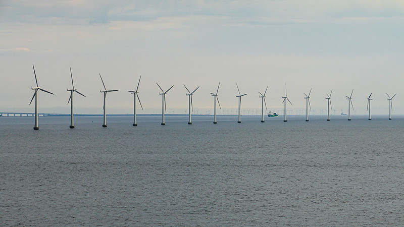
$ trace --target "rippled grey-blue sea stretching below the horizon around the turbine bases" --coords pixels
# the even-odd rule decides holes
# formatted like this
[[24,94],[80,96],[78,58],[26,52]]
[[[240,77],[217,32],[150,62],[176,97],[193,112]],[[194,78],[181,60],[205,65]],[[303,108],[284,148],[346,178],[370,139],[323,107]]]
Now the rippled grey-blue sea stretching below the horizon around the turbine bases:
[[1,226],[404,225],[404,116],[0,118]]

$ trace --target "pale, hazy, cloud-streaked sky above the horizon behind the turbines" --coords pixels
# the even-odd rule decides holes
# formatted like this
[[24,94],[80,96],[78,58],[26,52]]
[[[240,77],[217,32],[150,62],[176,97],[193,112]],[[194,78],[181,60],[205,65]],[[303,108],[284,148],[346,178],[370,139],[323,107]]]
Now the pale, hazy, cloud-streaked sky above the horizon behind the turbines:
[[[103,112],[103,76],[107,113],[133,113],[139,76],[143,110],[161,113],[167,93],[168,113],[187,113],[189,90],[194,113],[213,114],[220,82],[222,111],[261,111],[259,91],[268,110],[292,114],[306,109],[326,114],[332,91],[333,113],[404,114],[404,2],[401,0],[313,1],[29,1],[0,0],[0,111],[33,112],[32,65],[43,89],[39,112],[69,113],[70,68],[76,113]],[[266,110],[265,110],[266,111]]]

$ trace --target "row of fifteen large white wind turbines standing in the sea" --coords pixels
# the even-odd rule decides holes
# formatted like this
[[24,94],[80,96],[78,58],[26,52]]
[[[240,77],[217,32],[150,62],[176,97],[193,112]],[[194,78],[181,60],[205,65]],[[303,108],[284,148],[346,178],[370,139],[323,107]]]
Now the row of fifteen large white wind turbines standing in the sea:
[[[38,126],[38,106],[37,106],[37,93],[38,93],[38,90],[41,90],[41,91],[43,91],[43,92],[46,92],[46,93],[49,93],[49,94],[53,94],[54,95],[54,93],[52,93],[52,92],[49,92],[49,91],[47,91],[47,90],[45,90],[45,89],[43,89],[43,88],[41,88],[41,87],[39,87],[39,85],[38,85],[38,80],[37,80],[37,78],[36,78],[36,73],[35,73],[35,67],[34,67],[34,65],[32,65],[32,68],[33,68],[33,70],[34,70],[34,76],[35,76],[35,82],[36,82],[36,87],[31,87],[31,89],[32,90],[35,90],[35,92],[34,92],[34,95],[32,96],[32,99],[31,99],[31,102],[29,103],[30,105],[31,105],[31,103],[32,103],[32,101],[33,101],[33,99],[35,98],[35,125],[34,125],[34,130],[38,130],[39,129],[39,126]],[[71,80],[72,80],[72,89],[67,89],[67,91],[70,91],[71,93],[70,93],[70,97],[69,97],[69,100],[68,100],[68,104],[69,104],[69,102],[70,102],[70,104],[71,104],[71,114],[70,114],[70,128],[71,129],[74,129],[75,128],[75,126],[74,126],[74,119],[73,119],[73,116],[74,116],[74,113],[73,113],[73,94],[74,94],[74,92],[77,92],[78,94],[80,94],[80,95],[82,95],[83,97],[85,97],[85,95],[84,94],[82,94],[82,93],[80,93],[77,89],[75,89],[74,88],[74,83],[73,83],[73,75],[72,75],[72,69],[70,68],[70,77],[71,77]],[[100,79],[101,79],[101,82],[103,83],[103,86],[104,86],[104,90],[100,90],[100,93],[104,93],[104,106],[103,106],[103,110],[104,110],[104,122],[103,122],[103,127],[105,128],[105,127],[107,127],[107,118],[106,118],[106,98],[107,98],[107,93],[108,92],[113,92],[113,91],[118,91],[118,89],[113,89],[113,90],[108,90],[107,88],[106,88],[106,86],[105,86],[105,83],[104,83],[104,80],[103,80],[103,77],[101,76],[101,74],[99,74],[99,77],[100,77]],[[140,98],[139,98],[139,84],[140,84],[140,79],[141,79],[141,76],[139,77],[139,81],[138,81],[138,83],[137,83],[137,87],[136,87],[136,90],[129,90],[128,92],[130,92],[131,94],[134,94],[134,101],[133,101],[133,126],[137,126],[137,121],[136,121],[136,99],[139,101],[139,104],[140,104],[140,107],[143,109],[143,106],[142,106],[142,104],[141,104],[141,102],[140,102]],[[174,87],[174,85],[173,86],[171,86],[169,89],[167,89],[166,91],[164,91],[163,90],[163,88],[158,84],[158,83],[156,83],[157,84],[157,86],[160,88],[160,90],[161,90],[161,92],[162,93],[160,93],[160,95],[162,95],[162,123],[161,123],[161,125],[166,125],[166,123],[165,123],[165,116],[164,116],[164,113],[165,113],[165,111],[167,111],[167,107],[166,107],[166,94],[167,94],[167,92],[168,91],[170,91],[171,90],[171,88],[173,88]],[[240,109],[241,109],[241,97],[243,97],[243,96],[245,96],[245,95],[247,95],[247,94],[241,94],[240,93],[240,89],[239,89],[239,87],[238,87],[238,84],[236,83],[236,86],[237,86],[237,91],[238,91],[238,95],[236,95],[236,97],[238,97],[238,121],[237,121],[237,123],[241,123],[241,115],[240,115]],[[191,125],[192,124],[192,122],[191,122],[191,111],[193,111],[193,104],[192,104],[192,95],[193,95],[193,93],[199,88],[199,87],[197,87],[197,88],[195,88],[192,92],[190,92],[190,90],[184,85],[184,87],[185,87],[185,89],[187,90],[187,92],[188,93],[186,93],[186,95],[188,96],[188,124],[189,125]],[[219,108],[220,109],[222,109],[221,108],[221,106],[220,106],[220,102],[219,102],[219,98],[218,98],[218,96],[219,96],[219,87],[220,87],[220,82],[219,82],[219,84],[218,84],[218,88],[217,88],[217,90],[216,90],[216,93],[211,93],[211,96],[212,97],[214,97],[214,124],[217,124],[217,118],[216,118],[216,101],[217,101],[217,103],[218,103],[218,105],[219,105]],[[265,105],[265,108],[266,108],[266,110],[268,111],[268,108],[267,108],[267,103],[266,103],[266,100],[265,100],[265,95],[266,95],[266,93],[267,93],[267,90],[268,90],[268,86],[266,87],[266,89],[265,89],[265,91],[264,91],[264,93],[261,93],[261,92],[258,92],[259,94],[260,94],[260,98],[261,98],[261,102],[262,102],[262,104],[261,104],[261,122],[265,122],[264,121],[264,105]],[[309,94],[307,95],[306,93],[304,93],[304,95],[305,95],[305,99],[306,99],[306,121],[308,122],[309,121],[309,108],[310,108],[310,110],[311,110],[311,105],[310,105],[310,94],[311,94],[311,92],[312,92],[312,89],[310,89],[310,92],[309,92]],[[352,109],[354,109],[354,105],[352,104],[352,94],[354,93],[354,89],[352,89],[352,92],[351,92],[351,94],[350,94],[350,96],[348,97],[348,96],[345,96],[346,97],[346,99],[348,100],[348,121],[350,121],[351,120],[351,118],[350,118],[350,107],[352,106]],[[387,93],[386,93],[387,94]],[[331,90],[331,92],[330,92],[330,95],[328,95],[327,93],[326,93],[326,95],[327,95],[327,97],[326,97],[326,99],[327,99],[327,101],[328,101],[328,108],[327,108],[327,121],[330,121],[330,107],[331,107],[331,110],[332,110],[332,104],[331,104],[331,95],[332,95],[332,90]],[[391,120],[391,110],[392,110],[392,103],[391,103],[391,100],[394,98],[394,96],[395,96],[396,94],[394,94],[392,97],[390,97],[388,94],[387,94],[387,96],[388,96],[388,101],[389,101],[389,120]],[[369,95],[369,97],[367,98],[368,99],[368,105],[367,105],[367,111],[369,110],[369,120],[372,120],[372,118],[371,118],[371,111],[370,111],[370,107],[371,107],[371,100],[372,100],[372,98],[370,98],[372,96],[372,93]],[[282,103],[284,103],[284,122],[287,122],[287,119],[286,119],[286,100],[291,104],[291,105],[293,105],[292,104],[292,102],[289,100],[289,98],[288,98],[288,96],[287,96],[287,86],[286,86],[286,83],[285,83],[285,96],[283,96],[282,97],[283,98],[283,101],[282,101]]]

